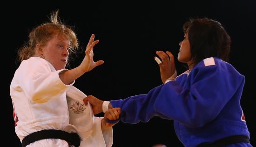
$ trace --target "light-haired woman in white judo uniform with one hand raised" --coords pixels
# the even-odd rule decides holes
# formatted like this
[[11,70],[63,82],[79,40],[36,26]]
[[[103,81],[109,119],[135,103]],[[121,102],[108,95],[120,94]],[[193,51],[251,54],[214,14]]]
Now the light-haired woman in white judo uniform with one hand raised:
[[78,48],[78,41],[75,33],[58,21],[58,11],[50,23],[29,34],[10,86],[15,132],[23,147],[112,146],[114,124],[106,120],[118,119],[120,108],[108,110],[105,117],[94,117],[90,104],[83,103],[86,95],[73,86],[82,74],[103,64],[103,60],[93,60],[98,42],[92,34],[83,61],[68,70],[68,56]]

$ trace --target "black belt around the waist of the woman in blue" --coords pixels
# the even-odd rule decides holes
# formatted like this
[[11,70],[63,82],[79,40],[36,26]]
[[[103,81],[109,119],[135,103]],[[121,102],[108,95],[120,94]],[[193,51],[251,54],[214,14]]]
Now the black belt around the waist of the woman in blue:
[[229,136],[229,137],[222,138],[213,143],[207,143],[207,142],[202,143],[202,144],[198,145],[197,147],[223,147],[223,146],[227,146],[227,145],[239,143],[239,142],[250,143],[248,137],[243,136],[243,135],[236,135],[236,136]]

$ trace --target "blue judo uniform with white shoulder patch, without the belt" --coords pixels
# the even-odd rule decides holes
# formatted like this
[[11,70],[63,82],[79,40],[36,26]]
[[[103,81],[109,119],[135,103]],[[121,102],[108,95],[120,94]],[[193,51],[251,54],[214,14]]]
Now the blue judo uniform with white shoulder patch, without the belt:
[[[125,123],[147,122],[154,116],[174,120],[177,137],[184,146],[196,147],[224,137],[245,135],[240,98],[245,77],[219,58],[202,60],[187,71],[148,94],[111,100],[121,107],[120,120]],[[236,143],[227,147],[252,147]]]

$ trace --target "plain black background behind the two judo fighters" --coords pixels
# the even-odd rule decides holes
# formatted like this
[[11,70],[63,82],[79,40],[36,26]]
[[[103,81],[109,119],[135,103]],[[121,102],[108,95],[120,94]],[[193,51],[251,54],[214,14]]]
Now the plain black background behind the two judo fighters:
[[[179,43],[183,39],[182,24],[190,17],[209,17],[223,24],[229,33],[232,45],[229,62],[246,77],[241,105],[250,131],[250,141],[256,144],[256,120],[253,118],[255,99],[255,55],[256,49],[256,1],[222,0],[196,1],[95,1],[77,3],[6,4],[2,12],[5,39],[2,40],[4,60],[4,127],[3,134],[10,147],[21,147],[14,132],[12,101],[9,86],[15,69],[16,51],[25,41],[32,28],[47,22],[49,14],[60,10],[64,23],[74,27],[82,48],[90,35],[100,43],[94,47],[94,60],[105,63],[84,74],[74,83],[85,94],[102,100],[123,99],[131,95],[147,94],[150,89],[162,84],[160,71],[154,60],[155,51],[170,51],[175,56],[177,74],[186,68],[176,60]],[[43,3],[43,4],[42,4]],[[3,11],[3,10],[1,10]],[[6,53],[7,51],[7,53]],[[84,57],[79,54],[71,62],[78,66]],[[203,110],[202,110],[203,111]],[[102,116],[99,114],[97,116]],[[177,139],[172,120],[152,118],[147,123],[124,124],[113,127],[113,147],[152,147],[165,144],[167,147],[182,147]]]

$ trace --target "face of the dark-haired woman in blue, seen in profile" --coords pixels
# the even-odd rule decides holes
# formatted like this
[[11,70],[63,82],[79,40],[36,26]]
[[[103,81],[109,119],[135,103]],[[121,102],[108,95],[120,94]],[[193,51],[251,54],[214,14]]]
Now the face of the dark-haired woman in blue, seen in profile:
[[191,52],[190,52],[190,43],[189,43],[189,35],[185,33],[184,39],[180,42],[180,51],[178,54],[178,60],[182,63],[192,63],[191,61]]

